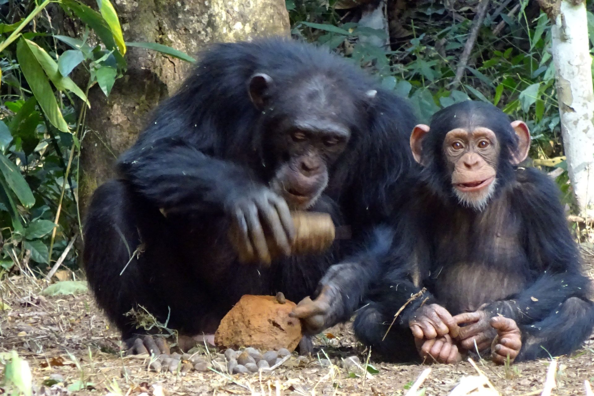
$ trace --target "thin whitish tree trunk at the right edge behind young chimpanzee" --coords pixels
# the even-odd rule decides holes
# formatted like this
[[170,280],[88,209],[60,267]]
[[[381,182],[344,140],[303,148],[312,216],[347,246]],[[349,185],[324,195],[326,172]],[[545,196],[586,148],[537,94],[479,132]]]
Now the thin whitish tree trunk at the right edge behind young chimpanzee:
[[592,216],[594,93],[585,2],[561,1],[552,26],[552,53],[567,170],[580,214]]

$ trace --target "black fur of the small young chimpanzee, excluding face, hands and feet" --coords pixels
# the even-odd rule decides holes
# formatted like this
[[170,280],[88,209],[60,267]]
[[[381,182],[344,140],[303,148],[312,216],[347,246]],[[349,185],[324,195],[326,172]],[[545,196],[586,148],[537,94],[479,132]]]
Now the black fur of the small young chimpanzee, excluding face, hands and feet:
[[[485,210],[463,207],[451,192],[442,144],[454,128],[491,128],[501,143],[498,188]],[[426,166],[410,191],[407,215],[388,259],[390,269],[369,293],[356,335],[390,360],[418,360],[409,319],[422,303],[451,315],[476,311],[514,319],[522,331],[517,360],[571,353],[592,332],[590,281],[580,271],[558,188],[536,169],[514,167],[517,136],[496,107],[463,102],[438,112],[423,142]],[[427,292],[400,313],[422,287]]]

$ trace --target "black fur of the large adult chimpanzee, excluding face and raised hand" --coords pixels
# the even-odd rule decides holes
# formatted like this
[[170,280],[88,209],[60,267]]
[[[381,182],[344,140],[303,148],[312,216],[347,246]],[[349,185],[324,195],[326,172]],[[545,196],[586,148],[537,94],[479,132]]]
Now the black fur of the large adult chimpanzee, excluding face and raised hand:
[[[413,113],[348,61],[311,45],[280,39],[220,44],[200,58],[119,159],[121,179],[94,194],[84,265],[97,302],[124,338],[140,332],[124,315],[139,305],[194,335],[214,332],[243,294],[281,291],[298,302],[331,282],[343,301],[333,319],[348,319],[378,273],[376,257],[390,246],[381,224],[400,203],[386,191],[397,191],[413,167],[407,150]],[[270,97],[277,102],[264,113],[247,93],[257,72],[274,80]],[[311,78],[330,84],[352,135],[310,210],[331,213],[337,225],[351,226],[353,237],[324,255],[283,258],[270,267],[239,264],[224,202],[273,177],[282,153],[267,151],[274,132],[267,127],[277,112],[292,111],[290,96]],[[371,101],[370,89],[378,91]]]

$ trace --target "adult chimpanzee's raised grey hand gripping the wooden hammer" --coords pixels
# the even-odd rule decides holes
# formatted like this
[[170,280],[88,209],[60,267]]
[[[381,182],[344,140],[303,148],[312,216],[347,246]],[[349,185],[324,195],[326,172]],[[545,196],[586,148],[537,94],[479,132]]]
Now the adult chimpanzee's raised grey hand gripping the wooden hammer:
[[[285,199],[274,194],[267,187],[252,187],[233,194],[225,203],[225,210],[239,230],[239,237],[247,256],[255,256],[261,262],[270,264],[270,249],[277,248],[286,255],[291,252],[295,236],[293,220]],[[264,236],[264,227],[272,238]],[[268,246],[273,241],[276,246]]]

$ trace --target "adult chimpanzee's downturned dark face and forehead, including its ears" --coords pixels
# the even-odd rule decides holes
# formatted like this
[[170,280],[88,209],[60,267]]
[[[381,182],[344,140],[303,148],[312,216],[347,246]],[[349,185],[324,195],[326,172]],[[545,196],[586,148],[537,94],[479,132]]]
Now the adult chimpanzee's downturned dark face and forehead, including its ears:
[[[267,117],[265,151],[272,158],[270,187],[292,209],[313,205],[328,184],[328,168],[345,151],[351,138],[354,100],[323,76],[304,78],[283,91],[266,89],[272,81],[255,75],[250,85],[252,102]],[[276,87],[277,88],[277,87]],[[374,91],[375,92],[375,91]]]

